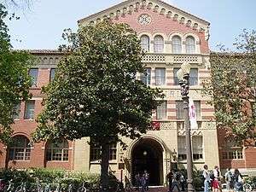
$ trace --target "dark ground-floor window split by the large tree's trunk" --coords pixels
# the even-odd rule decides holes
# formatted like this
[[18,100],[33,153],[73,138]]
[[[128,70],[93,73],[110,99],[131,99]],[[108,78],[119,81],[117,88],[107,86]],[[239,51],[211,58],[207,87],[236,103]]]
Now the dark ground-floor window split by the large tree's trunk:
[[[109,145],[109,160],[116,160],[117,158],[117,148],[116,143]],[[102,150],[99,145],[92,144],[90,146],[90,160],[101,160],[102,159]]]

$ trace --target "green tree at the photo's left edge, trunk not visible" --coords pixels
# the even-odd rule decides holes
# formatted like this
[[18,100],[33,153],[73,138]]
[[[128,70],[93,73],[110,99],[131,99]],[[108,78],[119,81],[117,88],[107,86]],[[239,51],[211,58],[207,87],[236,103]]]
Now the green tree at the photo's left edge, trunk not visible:
[[25,51],[12,49],[9,29],[4,22],[7,15],[0,3],[0,141],[3,143],[10,141],[15,106],[30,97],[31,79],[27,72],[33,61]]

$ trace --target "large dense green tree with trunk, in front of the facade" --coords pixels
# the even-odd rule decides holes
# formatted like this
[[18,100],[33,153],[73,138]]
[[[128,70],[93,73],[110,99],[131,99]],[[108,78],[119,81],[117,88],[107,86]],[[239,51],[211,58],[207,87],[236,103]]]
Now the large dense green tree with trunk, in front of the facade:
[[[104,21],[67,32],[70,44],[55,80],[44,88],[44,111],[36,140],[90,137],[102,148],[102,188],[108,186],[108,151],[121,137],[139,137],[151,125],[152,110],[163,95],[135,77],[143,73],[136,32]],[[102,189],[103,190],[103,189]]]

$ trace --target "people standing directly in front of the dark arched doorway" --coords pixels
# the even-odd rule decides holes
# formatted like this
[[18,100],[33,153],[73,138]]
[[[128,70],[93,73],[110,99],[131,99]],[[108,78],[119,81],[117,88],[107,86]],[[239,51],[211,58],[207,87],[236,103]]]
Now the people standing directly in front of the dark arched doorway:
[[137,172],[137,174],[135,175],[135,183],[137,191],[147,191],[149,184],[149,173],[146,170],[142,174]]

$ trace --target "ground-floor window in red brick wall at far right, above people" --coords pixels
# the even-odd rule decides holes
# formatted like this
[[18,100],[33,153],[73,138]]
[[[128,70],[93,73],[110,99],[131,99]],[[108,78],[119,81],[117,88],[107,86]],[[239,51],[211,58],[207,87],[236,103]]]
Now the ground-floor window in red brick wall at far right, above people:
[[241,143],[227,141],[224,145],[222,153],[224,160],[241,160],[243,159]]

